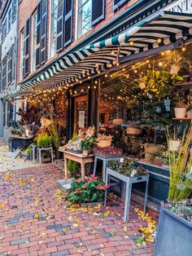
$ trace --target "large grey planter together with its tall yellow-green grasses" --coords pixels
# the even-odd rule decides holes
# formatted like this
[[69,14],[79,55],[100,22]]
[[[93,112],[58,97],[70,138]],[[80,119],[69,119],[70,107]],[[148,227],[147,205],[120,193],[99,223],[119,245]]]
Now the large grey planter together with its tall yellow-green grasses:
[[[191,201],[185,204],[192,192],[192,152],[189,153],[192,126],[183,135],[178,152],[169,153],[170,183],[168,204],[163,204],[155,239],[155,256],[190,255],[192,243]],[[170,136],[168,135],[168,138]],[[186,163],[186,158],[189,160]]]

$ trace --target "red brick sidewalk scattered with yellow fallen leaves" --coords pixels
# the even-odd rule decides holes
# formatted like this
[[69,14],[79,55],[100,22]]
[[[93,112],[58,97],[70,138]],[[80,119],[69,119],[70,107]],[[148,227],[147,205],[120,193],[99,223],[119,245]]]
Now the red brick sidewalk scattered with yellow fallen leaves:
[[[137,246],[142,220],[131,205],[93,211],[68,210],[59,195],[55,166],[0,173],[0,255],[152,255],[153,244]],[[152,212],[155,214],[155,212]],[[125,228],[124,228],[125,227]]]

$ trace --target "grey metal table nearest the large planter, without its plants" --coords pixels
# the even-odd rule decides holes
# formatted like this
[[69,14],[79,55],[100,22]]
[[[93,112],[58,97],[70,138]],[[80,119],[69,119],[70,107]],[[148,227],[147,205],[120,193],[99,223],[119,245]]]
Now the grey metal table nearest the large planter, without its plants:
[[[127,177],[124,174],[118,173],[116,170],[111,170],[107,168],[107,175],[106,175],[106,185],[110,184],[110,176],[115,177],[116,179],[120,179],[125,183],[125,202],[124,202],[124,222],[129,220],[129,209],[130,209],[130,201],[131,201],[131,190],[133,183],[142,183],[146,182],[146,191],[145,191],[145,199],[144,199],[144,214],[146,214],[146,202],[148,196],[148,185],[150,174],[145,176],[138,176],[138,177]],[[104,205],[107,204],[107,189],[105,192],[105,200]]]

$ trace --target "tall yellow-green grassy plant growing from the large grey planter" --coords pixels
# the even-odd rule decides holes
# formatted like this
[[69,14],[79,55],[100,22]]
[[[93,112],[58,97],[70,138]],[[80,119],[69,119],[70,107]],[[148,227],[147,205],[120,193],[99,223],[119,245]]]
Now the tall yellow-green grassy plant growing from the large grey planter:
[[[192,152],[190,150],[190,135],[192,133],[192,123],[190,124],[188,132],[184,131],[181,144],[178,152],[170,150],[169,141],[174,139],[172,134],[167,129],[168,139],[168,156],[169,156],[169,170],[170,183],[168,191],[168,201],[182,201],[187,199],[192,192]],[[189,155],[187,164],[186,159]]]

